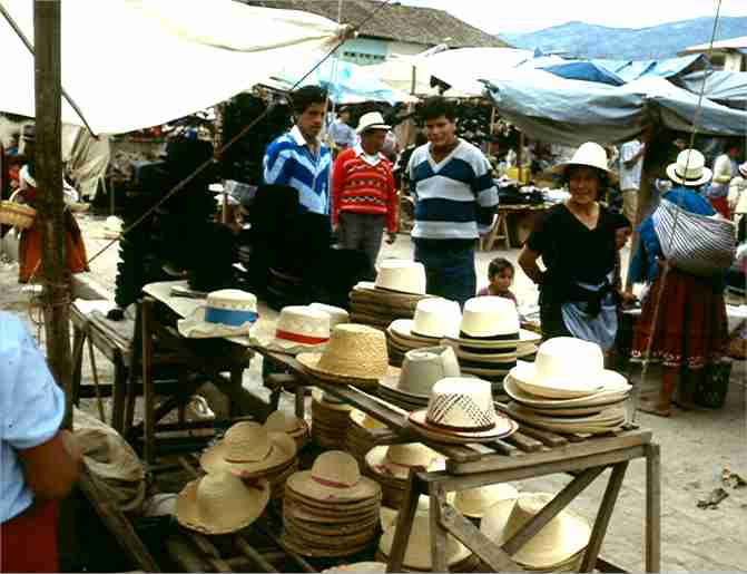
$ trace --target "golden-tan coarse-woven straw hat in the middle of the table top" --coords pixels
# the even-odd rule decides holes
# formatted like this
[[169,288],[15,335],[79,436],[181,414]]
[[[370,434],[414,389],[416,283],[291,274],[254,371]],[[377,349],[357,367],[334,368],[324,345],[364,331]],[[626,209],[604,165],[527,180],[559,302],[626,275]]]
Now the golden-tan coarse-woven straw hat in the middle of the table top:
[[389,370],[386,337],[371,327],[344,323],[332,331],[324,353],[301,353],[311,374],[331,382],[376,385]]

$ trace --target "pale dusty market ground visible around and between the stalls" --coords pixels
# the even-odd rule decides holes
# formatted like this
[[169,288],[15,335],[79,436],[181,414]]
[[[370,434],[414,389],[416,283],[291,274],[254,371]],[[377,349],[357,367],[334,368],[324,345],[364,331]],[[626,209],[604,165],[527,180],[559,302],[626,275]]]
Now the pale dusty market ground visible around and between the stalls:
[[[79,217],[89,256],[108,242],[102,239],[102,217]],[[518,251],[479,253],[479,284],[482,286],[488,263],[493,256],[507,256],[515,261]],[[625,254],[627,257],[627,253]],[[381,257],[412,257],[411,243],[400,236],[393,246],[384,245]],[[91,279],[114,290],[117,264],[117,245],[91,264]],[[30,292],[17,283],[17,265],[7,260],[0,262],[0,309],[21,317],[36,334],[28,303]],[[537,301],[537,291],[531,282],[517,274],[514,293],[520,304]],[[263,331],[271,331],[276,313],[261,309]],[[718,410],[676,410],[669,419],[638,414],[638,422],[653,432],[653,440],[661,446],[661,508],[662,508],[662,570],[667,572],[691,571],[747,571],[747,487],[726,488],[729,496],[715,509],[700,509],[699,499],[721,486],[724,468],[747,478],[747,428],[745,426],[745,362],[735,361],[726,405]],[[102,382],[111,378],[110,366],[102,356],[97,357]],[[244,386],[261,396],[267,396],[261,387],[261,360],[253,361],[245,376]],[[83,364],[85,381],[92,382],[88,361]],[[638,376],[633,374],[633,381]],[[652,372],[643,389],[656,389],[659,379]],[[292,401],[284,397],[283,408],[292,409]],[[87,409],[96,414],[92,403]],[[605,490],[605,473],[571,505],[574,512],[593,519]],[[525,492],[558,492],[570,478],[550,476],[524,480],[517,486]],[[632,463],[627,471],[618,505],[601,555],[629,571],[641,571],[645,525],[646,467],[642,460]]]

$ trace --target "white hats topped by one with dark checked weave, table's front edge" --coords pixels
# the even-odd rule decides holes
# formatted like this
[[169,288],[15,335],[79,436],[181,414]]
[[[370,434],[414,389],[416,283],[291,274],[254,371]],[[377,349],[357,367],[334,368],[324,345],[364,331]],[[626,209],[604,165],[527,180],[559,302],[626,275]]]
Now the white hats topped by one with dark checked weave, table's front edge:
[[486,442],[508,437],[519,426],[495,412],[490,382],[448,377],[433,386],[427,408],[410,414],[410,426],[438,442]]

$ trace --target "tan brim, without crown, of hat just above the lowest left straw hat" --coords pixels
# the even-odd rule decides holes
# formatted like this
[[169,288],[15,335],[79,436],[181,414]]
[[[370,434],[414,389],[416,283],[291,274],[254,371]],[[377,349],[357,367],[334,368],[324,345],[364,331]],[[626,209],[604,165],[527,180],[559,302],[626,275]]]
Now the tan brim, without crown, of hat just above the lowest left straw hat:
[[296,456],[296,441],[287,432],[268,432],[271,450],[267,458],[252,463],[230,463],[225,459],[226,445],[222,440],[199,457],[199,466],[208,474],[228,470],[242,478],[265,476],[285,468]]

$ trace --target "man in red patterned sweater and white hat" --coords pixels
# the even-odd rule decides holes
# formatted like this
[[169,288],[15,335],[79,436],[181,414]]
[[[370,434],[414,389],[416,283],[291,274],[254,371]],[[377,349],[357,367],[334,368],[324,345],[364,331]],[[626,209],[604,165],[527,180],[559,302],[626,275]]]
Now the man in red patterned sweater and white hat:
[[332,173],[332,226],[343,249],[366,253],[372,278],[384,225],[386,243],[396,239],[396,188],[392,164],[381,153],[389,129],[379,111],[361,116],[361,143],[337,156]]

